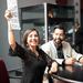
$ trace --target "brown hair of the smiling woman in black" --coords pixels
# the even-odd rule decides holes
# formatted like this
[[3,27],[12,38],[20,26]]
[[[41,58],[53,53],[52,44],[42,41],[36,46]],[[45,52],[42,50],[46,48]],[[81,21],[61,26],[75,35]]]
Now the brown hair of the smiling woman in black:
[[40,35],[39,35],[39,31],[37,29],[28,29],[24,34],[23,34],[23,45],[25,48],[28,48],[28,43],[27,43],[27,39],[28,39],[28,35],[32,32],[32,31],[35,31],[38,33],[38,37],[39,37],[39,40],[40,40]]

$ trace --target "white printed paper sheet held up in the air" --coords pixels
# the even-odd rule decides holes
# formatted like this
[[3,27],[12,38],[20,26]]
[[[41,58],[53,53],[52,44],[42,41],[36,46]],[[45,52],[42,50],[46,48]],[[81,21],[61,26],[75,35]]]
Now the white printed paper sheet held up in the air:
[[13,30],[21,30],[19,22],[19,13],[18,13],[18,1],[17,0],[7,0],[8,10],[12,13],[12,19],[10,20],[12,23]]

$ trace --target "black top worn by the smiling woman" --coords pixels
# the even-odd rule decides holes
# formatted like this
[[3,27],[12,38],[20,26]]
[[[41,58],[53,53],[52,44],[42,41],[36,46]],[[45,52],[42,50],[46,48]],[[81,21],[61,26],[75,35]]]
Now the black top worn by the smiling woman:
[[19,56],[23,60],[22,83],[42,83],[45,66],[51,66],[53,60],[41,49],[38,49],[38,52],[39,56],[31,50],[24,49],[18,43],[14,51],[10,48],[10,55]]

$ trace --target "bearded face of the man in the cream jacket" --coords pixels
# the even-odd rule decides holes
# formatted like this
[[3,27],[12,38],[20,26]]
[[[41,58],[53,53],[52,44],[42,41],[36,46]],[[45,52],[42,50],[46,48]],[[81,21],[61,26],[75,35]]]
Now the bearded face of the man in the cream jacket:
[[53,32],[53,40],[56,44],[61,44],[62,41],[64,40],[65,34],[64,31],[61,29],[55,29]]

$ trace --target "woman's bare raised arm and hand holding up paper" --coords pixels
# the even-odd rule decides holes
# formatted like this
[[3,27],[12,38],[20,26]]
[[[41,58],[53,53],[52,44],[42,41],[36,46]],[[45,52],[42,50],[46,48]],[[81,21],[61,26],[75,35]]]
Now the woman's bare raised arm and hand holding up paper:
[[8,21],[8,41],[9,41],[10,46],[12,48],[12,50],[14,50],[14,48],[15,48],[15,38],[14,38],[13,30],[12,30],[12,23],[10,21],[10,19],[12,17],[13,15],[12,15],[11,11],[6,10],[4,18]]

